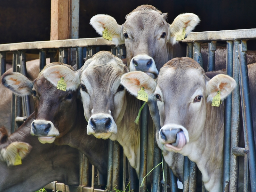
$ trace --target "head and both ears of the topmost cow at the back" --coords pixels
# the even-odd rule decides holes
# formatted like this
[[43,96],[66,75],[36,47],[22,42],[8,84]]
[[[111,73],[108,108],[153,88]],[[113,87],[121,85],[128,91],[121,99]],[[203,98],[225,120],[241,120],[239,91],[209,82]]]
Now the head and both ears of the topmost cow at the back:
[[143,71],[153,78],[175,52],[180,52],[175,46],[176,36],[181,35],[183,29],[188,34],[200,21],[197,15],[185,13],[168,24],[167,13],[151,5],[141,5],[125,18],[125,23],[118,25],[113,17],[99,14],[92,17],[90,24],[101,36],[107,28],[114,44],[125,44],[130,71]]

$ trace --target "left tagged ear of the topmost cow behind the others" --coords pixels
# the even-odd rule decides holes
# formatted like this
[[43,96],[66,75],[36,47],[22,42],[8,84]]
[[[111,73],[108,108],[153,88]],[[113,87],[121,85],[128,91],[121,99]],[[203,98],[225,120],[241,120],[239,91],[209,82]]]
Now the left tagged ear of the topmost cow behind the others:
[[102,32],[107,28],[114,44],[124,44],[122,26],[118,25],[113,17],[104,14],[95,15],[90,20],[90,24],[100,36],[102,36]]

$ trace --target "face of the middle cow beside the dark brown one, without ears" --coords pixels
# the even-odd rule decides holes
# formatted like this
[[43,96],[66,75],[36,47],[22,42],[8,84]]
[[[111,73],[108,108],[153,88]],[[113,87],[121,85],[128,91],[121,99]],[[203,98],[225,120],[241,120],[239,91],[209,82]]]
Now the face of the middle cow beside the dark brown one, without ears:
[[84,63],[81,72],[81,97],[87,134],[108,139],[117,133],[117,125],[126,109],[126,93],[120,84],[128,72],[122,60],[110,52],[101,51]]

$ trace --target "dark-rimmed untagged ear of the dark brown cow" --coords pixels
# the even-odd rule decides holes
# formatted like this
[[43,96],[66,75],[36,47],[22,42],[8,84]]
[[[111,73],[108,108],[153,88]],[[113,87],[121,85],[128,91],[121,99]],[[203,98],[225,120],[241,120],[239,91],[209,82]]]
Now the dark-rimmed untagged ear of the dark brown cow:
[[2,84],[19,96],[30,95],[33,89],[33,81],[16,72],[4,74]]

